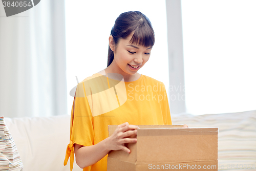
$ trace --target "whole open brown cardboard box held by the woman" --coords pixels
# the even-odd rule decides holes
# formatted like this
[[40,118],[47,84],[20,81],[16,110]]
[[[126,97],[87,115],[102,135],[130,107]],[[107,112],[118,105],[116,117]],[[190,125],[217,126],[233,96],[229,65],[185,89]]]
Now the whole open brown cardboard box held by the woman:
[[111,151],[108,171],[218,170],[218,127],[137,126],[137,142],[125,144],[131,153]]

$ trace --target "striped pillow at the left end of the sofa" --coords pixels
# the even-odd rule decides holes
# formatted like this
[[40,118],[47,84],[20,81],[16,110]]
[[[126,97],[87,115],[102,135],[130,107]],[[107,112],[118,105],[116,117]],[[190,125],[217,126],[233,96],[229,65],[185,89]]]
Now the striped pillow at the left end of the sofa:
[[5,124],[4,116],[0,117],[0,171],[23,170],[17,147]]

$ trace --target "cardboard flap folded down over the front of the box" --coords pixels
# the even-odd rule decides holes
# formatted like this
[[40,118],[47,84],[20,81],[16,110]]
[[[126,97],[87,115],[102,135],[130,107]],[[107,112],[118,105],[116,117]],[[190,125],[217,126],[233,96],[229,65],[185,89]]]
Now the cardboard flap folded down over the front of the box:
[[136,144],[137,163],[216,161],[218,127],[140,129]]

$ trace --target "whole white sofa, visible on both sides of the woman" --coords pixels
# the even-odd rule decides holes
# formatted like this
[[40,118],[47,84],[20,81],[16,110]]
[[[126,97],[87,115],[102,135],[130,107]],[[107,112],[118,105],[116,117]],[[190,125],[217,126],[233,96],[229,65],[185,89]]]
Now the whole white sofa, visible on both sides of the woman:
[[[189,127],[219,127],[219,164],[225,164],[225,169],[227,164],[255,164],[255,169],[249,170],[256,170],[256,111],[199,116],[182,113],[173,114],[172,120],[173,124],[186,123]],[[69,143],[70,115],[5,117],[5,122],[23,161],[24,171],[70,170],[70,160],[63,166]],[[74,162],[73,170],[82,169]]]

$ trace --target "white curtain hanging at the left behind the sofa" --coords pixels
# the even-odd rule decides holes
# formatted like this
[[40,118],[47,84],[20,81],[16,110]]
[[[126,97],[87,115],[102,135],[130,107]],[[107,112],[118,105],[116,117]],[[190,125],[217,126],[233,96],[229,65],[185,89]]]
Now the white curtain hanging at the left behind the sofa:
[[65,2],[6,17],[0,5],[0,115],[67,114]]

